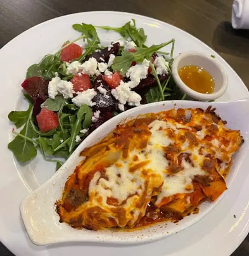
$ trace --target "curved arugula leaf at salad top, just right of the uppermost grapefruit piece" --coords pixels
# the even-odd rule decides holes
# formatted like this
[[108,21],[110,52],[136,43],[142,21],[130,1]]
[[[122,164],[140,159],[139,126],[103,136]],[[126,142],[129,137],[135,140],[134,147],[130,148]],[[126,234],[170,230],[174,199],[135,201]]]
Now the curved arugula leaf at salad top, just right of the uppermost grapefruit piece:
[[86,55],[91,54],[95,51],[96,48],[99,48],[98,45],[100,44],[100,39],[98,37],[95,27],[91,24],[73,24],[72,27],[73,29],[81,32],[82,35],[85,35],[88,44],[85,52],[79,58],[79,61],[82,61]]

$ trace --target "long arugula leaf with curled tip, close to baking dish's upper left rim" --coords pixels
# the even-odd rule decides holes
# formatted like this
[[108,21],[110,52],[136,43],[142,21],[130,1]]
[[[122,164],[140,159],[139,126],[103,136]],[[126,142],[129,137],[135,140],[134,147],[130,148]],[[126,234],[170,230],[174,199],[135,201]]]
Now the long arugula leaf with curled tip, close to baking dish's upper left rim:
[[82,105],[78,112],[77,112],[77,119],[76,122],[74,122],[73,126],[72,126],[72,131],[71,131],[71,138],[69,141],[69,153],[72,152],[72,150],[74,149],[75,145],[76,145],[76,141],[75,138],[76,136],[79,134],[79,131],[82,129],[82,120],[85,120],[83,122],[83,128],[88,128],[89,125],[91,125],[91,117],[92,117],[92,110],[90,107],[88,107],[87,105]]

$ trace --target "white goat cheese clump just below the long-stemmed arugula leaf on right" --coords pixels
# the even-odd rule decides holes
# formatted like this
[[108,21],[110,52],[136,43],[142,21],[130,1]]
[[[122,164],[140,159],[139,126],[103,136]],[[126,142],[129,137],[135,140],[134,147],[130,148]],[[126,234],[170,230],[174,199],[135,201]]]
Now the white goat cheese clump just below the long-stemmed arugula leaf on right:
[[131,80],[128,82],[130,88],[135,88],[139,85],[141,79],[147,77],[149,64],[150,62],[144,59],[142,63],[136,64],[127,70],[126,77]]

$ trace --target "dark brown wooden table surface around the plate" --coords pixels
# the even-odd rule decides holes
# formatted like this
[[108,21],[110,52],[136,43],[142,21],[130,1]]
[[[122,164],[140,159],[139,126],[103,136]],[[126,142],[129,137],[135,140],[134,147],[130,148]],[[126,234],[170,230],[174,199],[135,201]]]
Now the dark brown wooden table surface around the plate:
[[[0,0],[0,47],[26,29],[76,12],[113,10],[151,16],[199,38],[239,74],[249,88],[249,30],[230,24],[233,0]],[[249,255],[249,236],[232,254]],[[13,256],[0,243],[0,256]]]

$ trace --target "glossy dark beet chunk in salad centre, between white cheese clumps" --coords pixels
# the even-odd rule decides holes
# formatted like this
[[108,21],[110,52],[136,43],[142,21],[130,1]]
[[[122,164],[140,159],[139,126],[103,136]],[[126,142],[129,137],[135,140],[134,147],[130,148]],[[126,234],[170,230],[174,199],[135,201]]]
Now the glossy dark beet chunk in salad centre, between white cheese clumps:
[[[100,93],[100,91],[97,89],[99,86],[102,86],[105,90],[107,90],[107,93]],[[116,99],[113,98],[110,87],[103,80],[101,75],[95,79],[93,88],[97,92],[97,95],[92,99],[92,102],[96,103],[96,105],[93,106],[93,109],[95,111],[99,110],[101,112],[112,112],[115,109]]]

